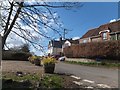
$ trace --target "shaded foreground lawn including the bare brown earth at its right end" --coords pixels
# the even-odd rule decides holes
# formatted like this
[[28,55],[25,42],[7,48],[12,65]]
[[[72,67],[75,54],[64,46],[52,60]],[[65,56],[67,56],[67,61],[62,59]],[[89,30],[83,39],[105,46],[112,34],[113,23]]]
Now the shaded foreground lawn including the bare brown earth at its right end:
[[40,76],[37,73],[17,75],[15,72],[7,72],[2,75],[2,90],[33,90],[38,88],[40,90],[48,88],[50,90],[61,90],[61,88],[78,88],[79,86],[73,83],[74,80],[69,75],[58,73],[45,73]]

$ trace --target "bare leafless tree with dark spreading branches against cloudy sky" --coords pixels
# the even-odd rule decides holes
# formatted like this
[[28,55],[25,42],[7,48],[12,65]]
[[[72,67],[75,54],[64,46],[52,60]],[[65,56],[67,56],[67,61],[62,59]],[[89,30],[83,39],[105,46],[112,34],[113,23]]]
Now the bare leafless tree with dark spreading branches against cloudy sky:
[[[58,23],[53,8],[78,8],[80,3],[47,3],[47,2],[16,2],[15,0],[3,1],[1,5],[2,19],[2,49],[6,45],[6,40],[10,34],[19,36],[25,42],[29,42],[33,47],[42,48],[38,40],[51,38],[44,29],[61,35],[63,27]],[[51,25],[54,22],[55,27]],[[57,28],[56,28],[57,27]],[[33,34],[34,33],[34,34]],[[37,45],[37,46],[36,46]]]

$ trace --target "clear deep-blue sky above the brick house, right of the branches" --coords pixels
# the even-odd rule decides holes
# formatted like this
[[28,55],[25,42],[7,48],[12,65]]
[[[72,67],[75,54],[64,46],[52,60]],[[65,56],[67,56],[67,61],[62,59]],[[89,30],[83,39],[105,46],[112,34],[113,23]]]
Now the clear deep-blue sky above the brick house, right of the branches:
[[[54,9],[63,26],[69,31],[66,38],[82,37],[88,30],[118,19],[117,2],[82,2],[76,10]],[[59,38],[59,37],[55,37]],[[45,45],[48,45],[46,40]],[[36,51],[35,54],[40,54]]]

